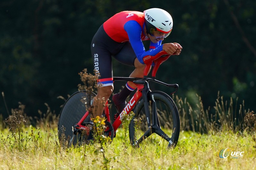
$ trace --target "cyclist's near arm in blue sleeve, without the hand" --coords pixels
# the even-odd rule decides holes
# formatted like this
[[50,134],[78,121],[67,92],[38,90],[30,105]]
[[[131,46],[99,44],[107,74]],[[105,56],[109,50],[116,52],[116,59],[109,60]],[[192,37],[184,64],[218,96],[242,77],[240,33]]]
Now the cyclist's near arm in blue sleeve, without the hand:
[[156,47],[156,44],[151,43],[150,45],[155,45],[156,48],[146,51],[144,45],[141,41],[141,33],[142,29],[138,22],[132,20],[128,21],[124,25],[124,30],[127,32],[132,48],[140,61],[140,63],[144,64],[143,57],[148,55],[156,55],[160,51],[163,50],[163,45]]

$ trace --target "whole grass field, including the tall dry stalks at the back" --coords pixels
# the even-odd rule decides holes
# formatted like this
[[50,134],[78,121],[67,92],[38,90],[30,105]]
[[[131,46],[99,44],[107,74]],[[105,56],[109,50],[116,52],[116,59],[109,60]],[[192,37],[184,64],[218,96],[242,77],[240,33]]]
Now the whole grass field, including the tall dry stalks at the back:
[[[0,169],[256,169],[254,112],[239,105],[236,113],[232,99],[228,104],[218,97],[212,113],[198,99],[192,108],[176,97],[181,131],[171,149],[160,137],[133,148],[123,127],[111,144],[66,147],[59,143],[58,117],[48,106],[33,127],[20,105],[0,123]],[[223,151],[227,148],[230,152]]]

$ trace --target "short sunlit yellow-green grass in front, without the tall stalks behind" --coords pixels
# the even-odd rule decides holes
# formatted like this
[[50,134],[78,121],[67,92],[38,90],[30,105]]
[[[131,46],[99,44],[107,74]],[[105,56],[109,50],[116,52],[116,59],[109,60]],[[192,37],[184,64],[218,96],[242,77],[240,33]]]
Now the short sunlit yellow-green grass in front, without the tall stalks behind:
[[[20,139],[19,139],[20,137]],[[125,144],[124,144],[125,143]],[[220,158],[220,151],[232,148],[243,157]],[[174,149],[160,142],[144,141],[140,148],[124,140],[124,129],[100,151],[99,144],[61,147],[57,129],[20,128],[12,135],[1,130],[0,169],[255,169],[255,134],[232,131],[199,134],[181,131]],[[106,163],[107,162],[107,163]]]

